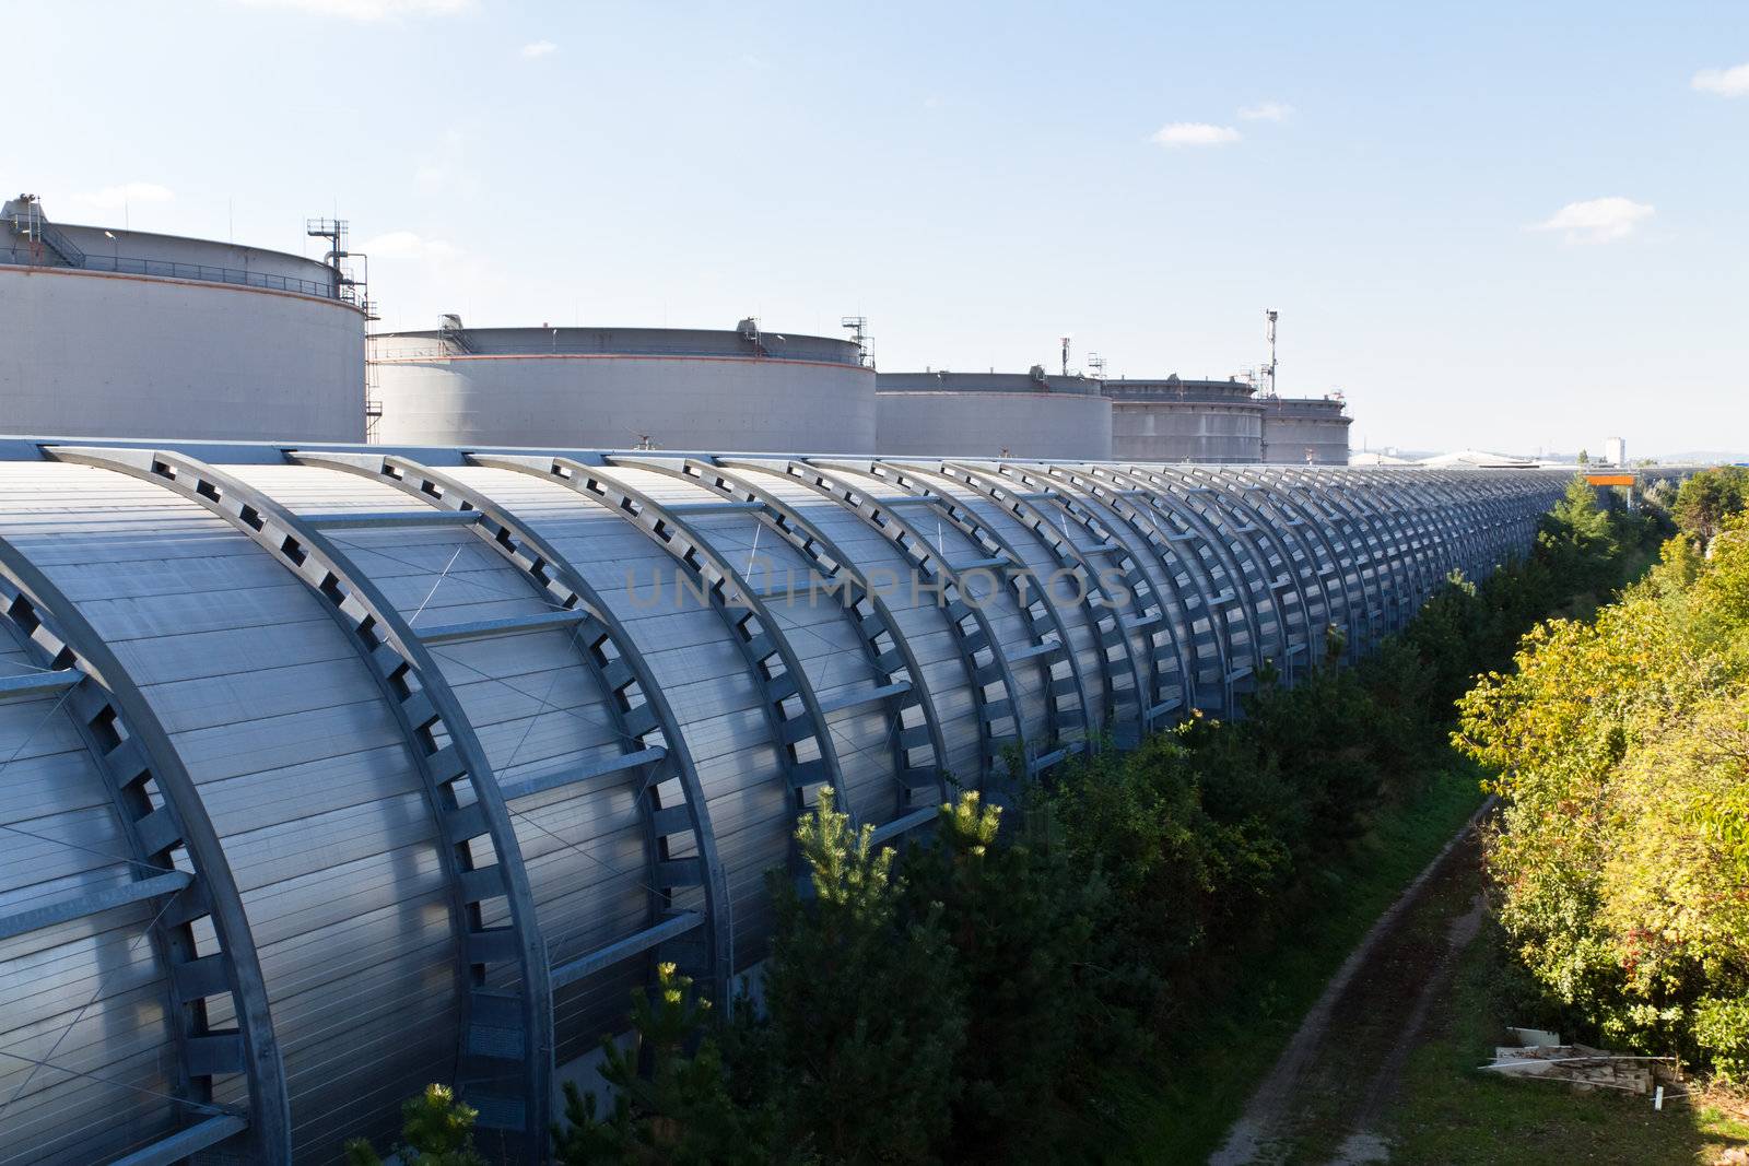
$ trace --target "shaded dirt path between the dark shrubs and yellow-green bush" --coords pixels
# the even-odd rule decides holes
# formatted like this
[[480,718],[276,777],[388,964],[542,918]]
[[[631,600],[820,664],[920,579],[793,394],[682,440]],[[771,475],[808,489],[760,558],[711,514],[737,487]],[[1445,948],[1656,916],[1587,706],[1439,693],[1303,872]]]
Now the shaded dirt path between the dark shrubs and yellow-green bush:
[[1389,1161],[1369,1126],[1457,953],[1481,928],[1474,827],[1490,808],[1492,799],[1348,953],[1210,1166]]

